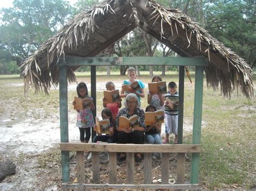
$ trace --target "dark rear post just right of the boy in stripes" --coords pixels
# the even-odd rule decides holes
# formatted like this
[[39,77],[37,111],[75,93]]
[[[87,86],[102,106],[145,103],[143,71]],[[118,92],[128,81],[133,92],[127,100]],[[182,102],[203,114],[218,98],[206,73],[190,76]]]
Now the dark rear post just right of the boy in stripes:
[[184,66],[179,66],[179,117],[178,117],[178,144],[183,139],[183,111],[184,111]]

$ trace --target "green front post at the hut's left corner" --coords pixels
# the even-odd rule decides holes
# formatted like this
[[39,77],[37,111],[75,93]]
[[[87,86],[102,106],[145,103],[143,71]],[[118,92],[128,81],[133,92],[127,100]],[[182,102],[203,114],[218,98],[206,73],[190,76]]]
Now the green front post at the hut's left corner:
[[[68,123],[68,67],[59,66],[60,142],[69,142]],[[62,151],[62,182],[69,182],[69,151]]]

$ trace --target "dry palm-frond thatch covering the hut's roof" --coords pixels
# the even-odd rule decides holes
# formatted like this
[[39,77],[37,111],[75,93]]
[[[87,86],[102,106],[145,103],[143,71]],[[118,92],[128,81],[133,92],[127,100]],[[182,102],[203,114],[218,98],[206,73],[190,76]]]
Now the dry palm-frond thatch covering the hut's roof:
[[[177,9],[166,9],[155,2],[147,1],[143,6],[144,8],[149,8],[151,13],[149,15],[143,14],[143,20],[139,20],[137,15],[139,6],[137,7],[136,4],[143,2],[136,0],[108,0],[90,11],[81,12],[73,17],[55,36],[46,41],[38,51],[23,61],[21,76],[25,79],[24,82],[28,86],[33,87],[36,92],[44,90],[48,94],[51,84],[57,87],[59,83],[58,61],[65,59],[65,55],[76,55],[74,53],[78,46],[84,48],[84,52],[87,51],[86,48],[90,48],[88,47],[89,45],[83,46],[83,44],[86,44],[90,40],[90,34],[98,29],[95,17],[105,16],[107,13],[110,13],[113,15],[112,19],[114,19],[114,10],[118,6],[117,4],[127,3],[132,9],[132,13],[130,13],[131,15],[128,18],[137,18],[136,22],[152,21],[153,25],[160,27],[157,31],[160,31],[161,38],[167,39],[164,34],[166,30],[170,31],[172,35],[176,31],[179,36],[178,27],[180,27],[186,33],[186,37],[183,40],[188,42],[187,48],[191,48],[192,38],[196,39],[196,51],[201,53],[207,52],[206,55],[208,55],[209,65],[205,68],[208,87],[217,89],[220,86],[224,96],[230,96],[235,88],[239,87],[246,97],[253,98],[253,71],[243,59],[213,38],[198,23]],[[109,27],[123,26],[123,23],[118,24],[118,26],[113,25]],[[202,46],[207,48],[202,49]],[[210,55],[213,53],[226,61],[227,65],[225,67],[228,73],[214,65],[210,59]],[[84,54],[84,56],[87,55],[86,53]],[[73,69],[72,67],[68,69],[69,82],[76,81]]]

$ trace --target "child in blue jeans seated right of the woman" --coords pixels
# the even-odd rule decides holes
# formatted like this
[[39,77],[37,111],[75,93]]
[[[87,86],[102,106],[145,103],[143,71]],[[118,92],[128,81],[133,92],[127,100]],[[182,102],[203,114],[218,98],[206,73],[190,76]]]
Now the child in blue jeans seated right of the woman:
[[[154,107],[154,105],[148,105],[146,107],[146,112],[154,112],[156,110],[157,108]],[[149,144],[162,144],[160,133],[161,133],[160,123],[152,123],[151,125],[147,125],[146,127],[147,142]],[[153,157],[156,158],[157,155],[159,154],[154,153]]]

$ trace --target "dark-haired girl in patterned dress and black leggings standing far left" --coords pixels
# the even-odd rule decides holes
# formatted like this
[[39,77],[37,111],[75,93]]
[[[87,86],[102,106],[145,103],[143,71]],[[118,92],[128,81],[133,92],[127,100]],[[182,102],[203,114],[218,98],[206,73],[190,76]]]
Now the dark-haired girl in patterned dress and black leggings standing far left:
[[[76,126],[79,128],[80,131],[80,142],[88,143],[91,137],[91,129],[94,126],[92,110],[95,109],[95,105],[93,104],[93,98],[88,95],[87,86],[84,82],[78,83],[77,95],[81,99],[91,98],[91,103],[89,107],[85,107],[83,110],[77,110],[76,122]],[[73,101],[72,104],[75,105],[75,101]]]

